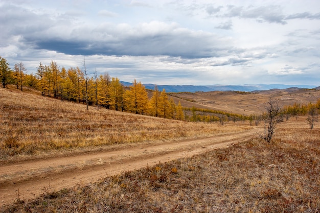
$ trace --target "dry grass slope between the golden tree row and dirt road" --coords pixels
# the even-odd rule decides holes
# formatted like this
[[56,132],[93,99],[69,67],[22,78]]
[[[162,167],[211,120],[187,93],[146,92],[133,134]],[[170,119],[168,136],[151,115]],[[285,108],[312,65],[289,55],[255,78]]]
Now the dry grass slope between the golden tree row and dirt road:
[[86,107],[16,89],[0,89],[0,160],[112,144],[154,142],[242,131]]

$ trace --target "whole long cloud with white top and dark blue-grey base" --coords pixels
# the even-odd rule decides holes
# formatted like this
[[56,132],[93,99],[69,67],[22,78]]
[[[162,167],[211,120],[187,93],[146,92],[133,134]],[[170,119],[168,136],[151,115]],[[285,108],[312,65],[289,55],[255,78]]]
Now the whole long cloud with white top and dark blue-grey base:
[[[48,29],[50,31],[50,29]],[[83,35],[86,32],[89,38]],[[138,26],[107,25],[99,28],[76,28],[70,35],[25,37],[37,49],[71,55],[168,55],[184,58],[221,56],[227,42],[213,33],[179,27],[159,21]],[[224,46],[225,45],[225,46]],[[224,48],[222,48],[224,46]]]

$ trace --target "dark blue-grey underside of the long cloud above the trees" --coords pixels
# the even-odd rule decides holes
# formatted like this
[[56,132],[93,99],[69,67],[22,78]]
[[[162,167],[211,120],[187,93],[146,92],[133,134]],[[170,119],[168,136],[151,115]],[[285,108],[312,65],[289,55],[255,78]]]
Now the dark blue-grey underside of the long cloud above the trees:
[[210,48],[210,42],[201,37],[155,35],[127,37],[121,41],[69,41],[51,39],[34,41],[37,49],[45,49],[69,55],[168,55],[183,58],[207,58],[223,52]]

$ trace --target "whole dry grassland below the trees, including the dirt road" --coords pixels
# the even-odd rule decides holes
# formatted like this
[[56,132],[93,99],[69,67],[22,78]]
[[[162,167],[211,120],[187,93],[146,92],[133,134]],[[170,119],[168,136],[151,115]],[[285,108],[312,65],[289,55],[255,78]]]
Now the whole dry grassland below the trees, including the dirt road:
[[266,143],[262,123],[87,111],[3,88],[0,101],[0,212],[320,212],[320,125],[306,116]]

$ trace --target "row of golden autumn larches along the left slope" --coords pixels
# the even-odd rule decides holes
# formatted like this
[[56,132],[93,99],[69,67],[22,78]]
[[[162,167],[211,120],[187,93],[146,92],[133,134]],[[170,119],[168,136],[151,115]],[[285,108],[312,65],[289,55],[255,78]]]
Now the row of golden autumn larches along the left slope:
[[149,99],[148,92],[141,82],[134,80],[132,85],[124,87],[118,78],[109,74],[88,77],[87,70],[79,67],[59,67],[55,61],[37,66],[35,74],[27,74],[22,62],[11,69],[5,58],[0,57],[0,78],[2,86],[16,85],[23,90],[30,86],[39,90],[42,96],[86,103],[90,106],[126,111],[136,114],[184,120],[185,114],[180,103],[176,105],[169,99],[165,89],[158,91],[155,87]]

